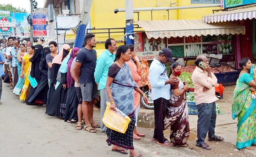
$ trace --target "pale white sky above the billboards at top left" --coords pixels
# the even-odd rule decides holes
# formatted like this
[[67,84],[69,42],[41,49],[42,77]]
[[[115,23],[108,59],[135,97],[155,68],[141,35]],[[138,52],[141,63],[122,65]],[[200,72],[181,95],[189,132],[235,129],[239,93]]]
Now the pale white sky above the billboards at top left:
[[[44,0],[35,0],[35,2],[37,2],[37,8],[44,7]],[[1,4],[12,4],[13,7],[25,8],[26,11],[30,13],[30,0],[7,0],[4,3],[1,2]]]

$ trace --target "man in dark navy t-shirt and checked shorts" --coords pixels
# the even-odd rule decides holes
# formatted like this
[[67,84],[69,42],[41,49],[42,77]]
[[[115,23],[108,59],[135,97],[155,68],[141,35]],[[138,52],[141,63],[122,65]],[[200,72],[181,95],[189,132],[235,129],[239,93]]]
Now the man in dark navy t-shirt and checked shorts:
[[85,120],[85,130],[91,133],[95,133],[95,128],[100,126],[93,122],[93,100],[98,97],[98,91],[96,82],[94,79],[94,71],[96,67],[96,51],[93,47],[96,46],[95,35],[87,34],[84,38],[85,47],[80,50],[80,53],[76,56],[75,73],[80,84],[83,103],[82,112],[83,119]]

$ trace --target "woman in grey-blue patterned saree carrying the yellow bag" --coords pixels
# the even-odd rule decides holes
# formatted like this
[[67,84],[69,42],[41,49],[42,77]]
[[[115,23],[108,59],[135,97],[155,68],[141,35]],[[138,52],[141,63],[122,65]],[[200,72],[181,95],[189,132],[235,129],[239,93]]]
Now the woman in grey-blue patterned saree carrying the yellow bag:
[[134,150],[133,146],[133,130],[135,125],[134,89],[143,95],[146,102],[148,99],[133,80],[131,70],[125,63],[129,61],[131,57],[131,51],[128,46],[119,46],[115,62],[109,67],[106,82],[106,92],[109,97],[110,108],[115,110],[115,107],[117,107],[130,117],[131,122],[125,133],[119,133],[109,128],[106,130],[106,133],[108,135],[108,144],[113,144],[113,152],[128,154],[126,150],[130,150],[130,157],[141,157],[141,155]]

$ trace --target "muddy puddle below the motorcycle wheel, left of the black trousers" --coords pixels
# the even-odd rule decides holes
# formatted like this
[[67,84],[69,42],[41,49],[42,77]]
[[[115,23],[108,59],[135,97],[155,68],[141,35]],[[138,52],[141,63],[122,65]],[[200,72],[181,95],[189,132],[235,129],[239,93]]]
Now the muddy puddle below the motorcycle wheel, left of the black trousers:
[[155,128],[155,120],[154,120],[154,115],[147,115],[144,113],[140,113],[138,116],[138,122],[137,125],[142,128]]

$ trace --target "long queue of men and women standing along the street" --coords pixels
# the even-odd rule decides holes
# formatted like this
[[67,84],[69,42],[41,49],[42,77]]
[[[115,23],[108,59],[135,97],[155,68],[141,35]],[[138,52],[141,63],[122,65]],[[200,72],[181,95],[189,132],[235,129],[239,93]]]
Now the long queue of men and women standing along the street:
[[[8,42],[8,43],[7,43]],[[87,34],[83,48],[74,47],[70,51],[63,44],[58,53],[57,43],[50,42],[49,47],[40,44],[26,46],[9,37],[9,47],[0,54],[0,76],[9,81],[13,93],[28,105],[46,104],[46,114],[61,117],[67,122],[77,122],[75,129],[95,133],[100,128],[106,133],[112,151],[141,157],[133,146],[133,140],[145,137],[137,129],[140,95],[147,103],[146,95],[139,88],[141,65],[133,45],[117,47],[113,38],[106,40],[106,50],[96,58],[95,35]],[[114,53],[116,52],[116,53]],[[168,77],[165,63],[172,62]],[[200,66],[200,62],[205,64]],[[2,66],[6,66],[4,69]],[[215,135],[216,106],[215,87],[217,78],[211,72],[206,56],[195,60],[196,69],[192,74],[195,86],[195,104],[198,108],[196,146],[210,150],[208,141],[223,141]],[[249,58],[242,58],[239,65],[243,70],[234,90],[232,118],[238,118],[237,148],[254,148],[252,144],[256,133],[255,121],[256,68]],[[161,49],[149,68],[149,82],[154,100],[155,128],[152,141],[163,146],[187,146],[189,139],[188,108],[186,103],[186,82],[179,78],[181,65],[174,62],[173,53],[168,48]],[[8,76],[8,79],[7,79]],[[100,93],[100,124],[93,120],[93,102]],[[0,84],[0,96],[2,82]],[[254,97],[252,96],[254,94]],[[243,95],[243,96],[241,96]],[[106,102],[111,110],[118,108],[130,117],[131,122],[125,133],[119,133],[104,126],[102,118]],[[1,102],[0,102],[1,103]],[[85,124],[83,126],[83,124]],[[163,130],[170,128],[170,141]]]

